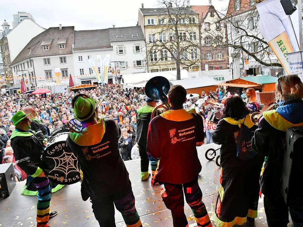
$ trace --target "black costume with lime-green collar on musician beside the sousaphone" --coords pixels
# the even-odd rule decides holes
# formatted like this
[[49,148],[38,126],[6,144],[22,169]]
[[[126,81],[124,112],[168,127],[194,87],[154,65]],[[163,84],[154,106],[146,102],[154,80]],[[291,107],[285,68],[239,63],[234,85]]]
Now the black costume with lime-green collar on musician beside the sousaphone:
[[152,180],[154,179],[155,170],[157,169],[159,159],[147,154],[147,131],[148,124],[151,120],[151,113],[154,107],[144,106],[137,110],[137,129],[136,129],[136,142],[139,145],[139,153],[141,156],[141,179],[148,178],[148,161],[151,163]]

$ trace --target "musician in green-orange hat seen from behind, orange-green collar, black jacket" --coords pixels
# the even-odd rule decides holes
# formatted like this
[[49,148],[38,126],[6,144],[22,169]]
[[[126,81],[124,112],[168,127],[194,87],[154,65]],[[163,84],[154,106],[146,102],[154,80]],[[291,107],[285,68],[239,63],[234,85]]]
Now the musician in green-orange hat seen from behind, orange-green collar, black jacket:
[[120,128],[114,120],[97,121],[95,100],[75,97],[73,112],[82,123],[80,133],[70,132],[67,148],[75,153],[83,173],[82,199],[90,197],[100,226],[115,227],[115,209],[127,227],[142,226],[135,208],[135,197],[124,162],[119,153]]

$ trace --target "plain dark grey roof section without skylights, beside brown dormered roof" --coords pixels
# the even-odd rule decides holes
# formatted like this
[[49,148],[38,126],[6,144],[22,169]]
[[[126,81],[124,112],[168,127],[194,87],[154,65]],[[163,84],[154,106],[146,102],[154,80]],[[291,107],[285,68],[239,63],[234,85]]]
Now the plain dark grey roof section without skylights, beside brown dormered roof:
[[108,28],[75,31],[74,51],[111,48]]

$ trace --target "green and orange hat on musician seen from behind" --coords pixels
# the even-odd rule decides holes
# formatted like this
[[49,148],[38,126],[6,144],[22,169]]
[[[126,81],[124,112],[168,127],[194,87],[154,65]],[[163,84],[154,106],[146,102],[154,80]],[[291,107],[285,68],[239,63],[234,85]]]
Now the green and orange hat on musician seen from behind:
[[85,121],[95,112],[95,100],[78,97],[74,104],[75,119]]

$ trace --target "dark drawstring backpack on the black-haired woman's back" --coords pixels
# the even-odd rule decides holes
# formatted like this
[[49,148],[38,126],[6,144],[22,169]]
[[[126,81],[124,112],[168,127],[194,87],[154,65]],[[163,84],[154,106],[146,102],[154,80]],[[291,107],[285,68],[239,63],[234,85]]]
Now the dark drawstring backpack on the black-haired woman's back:
[[245,118],[241,124],[237,138],[237,158],[248,161],[253,159],[256,153],[251,148],[251,138],[254,136],[254,133],[244,124]]

